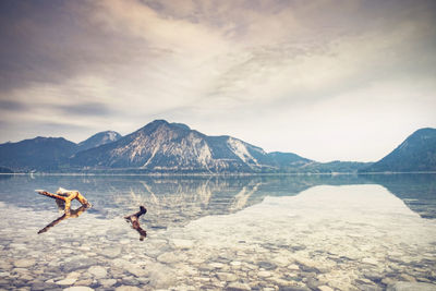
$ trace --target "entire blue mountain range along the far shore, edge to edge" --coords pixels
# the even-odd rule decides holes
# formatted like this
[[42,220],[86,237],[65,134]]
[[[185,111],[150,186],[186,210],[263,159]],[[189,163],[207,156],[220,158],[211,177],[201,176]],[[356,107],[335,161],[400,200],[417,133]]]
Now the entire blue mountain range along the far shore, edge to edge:
[[[413,158],[421,157],[419,153],[424,150],[427,154],[417,161],[420,171],[427,169],[423,167],[425,162],[432,163],[436,160],[434,141],[436,130],[421,129],[392,151],[405,150],[405,156],[404,153],[390,153],[375,163],[318,162],[293,153],[266,153],[258,146],[229,135],[209,136],[183,123],[155,120],[125,136],[106,131],[78,144],[63,137],[41,136],[0,144],[0,167],[19,172],[108,173],[335,173],[372,172],[374,169],[402,171],[405,168],[398,168],[398,165],[414,161]],[[401,161],[404,157],[407,159]],[[390,163],[386,166],[386,161]],[[380,165],[385,165],[385,168]],[[432,165],[429,170],[436,170]]]

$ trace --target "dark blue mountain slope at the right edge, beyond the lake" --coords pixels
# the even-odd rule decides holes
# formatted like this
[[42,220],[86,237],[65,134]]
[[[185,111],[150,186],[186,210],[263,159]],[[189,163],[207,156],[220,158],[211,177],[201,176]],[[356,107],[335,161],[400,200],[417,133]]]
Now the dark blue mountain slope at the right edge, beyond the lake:
[[436,129],[421,129],[364,172],[436,171]]

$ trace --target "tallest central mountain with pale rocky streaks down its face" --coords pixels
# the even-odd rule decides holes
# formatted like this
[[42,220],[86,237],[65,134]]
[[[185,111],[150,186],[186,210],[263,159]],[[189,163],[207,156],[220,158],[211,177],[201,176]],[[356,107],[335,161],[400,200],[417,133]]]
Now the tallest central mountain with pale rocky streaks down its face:
[[259,172],[308,161],[294,155],[288,165],[278,156],[231,136],[207,136],[185,124],[156,120],[117,142],[77,153],[70,162],[86,169]]

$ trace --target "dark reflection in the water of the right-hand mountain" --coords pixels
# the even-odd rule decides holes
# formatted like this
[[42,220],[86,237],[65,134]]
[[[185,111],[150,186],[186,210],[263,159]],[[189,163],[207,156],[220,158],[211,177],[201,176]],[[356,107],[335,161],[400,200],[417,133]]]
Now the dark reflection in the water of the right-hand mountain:
[[423,218],[436,218],[436,174],[374,174],[367,175],[402,199]]

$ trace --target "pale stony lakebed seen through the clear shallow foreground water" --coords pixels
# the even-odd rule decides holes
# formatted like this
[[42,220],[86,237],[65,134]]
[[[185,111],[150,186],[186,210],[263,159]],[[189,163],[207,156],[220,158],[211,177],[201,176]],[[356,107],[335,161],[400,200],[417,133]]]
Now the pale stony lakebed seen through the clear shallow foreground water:
[[0,290],[436,290],[435,220],[379,185],[193,213],[148,209],[140,241],[90,210],[37,234],[59,214],[1,202]]

